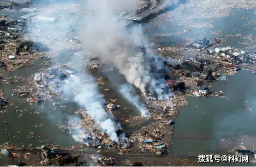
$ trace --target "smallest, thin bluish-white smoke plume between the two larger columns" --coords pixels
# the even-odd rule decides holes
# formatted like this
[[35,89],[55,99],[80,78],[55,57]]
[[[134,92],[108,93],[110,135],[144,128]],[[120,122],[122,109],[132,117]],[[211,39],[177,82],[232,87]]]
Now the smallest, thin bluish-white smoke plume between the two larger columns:
[[139,109],[141,115],[144,117],[149,117],[150,113],[146,109],[145,105],[140,102],[139,96],[132,96],[134,89],[132,85],[122,85],[119,88],[119,92],[122,93],[124,98],[128,100],[131,104],[134,104],[137,109]]

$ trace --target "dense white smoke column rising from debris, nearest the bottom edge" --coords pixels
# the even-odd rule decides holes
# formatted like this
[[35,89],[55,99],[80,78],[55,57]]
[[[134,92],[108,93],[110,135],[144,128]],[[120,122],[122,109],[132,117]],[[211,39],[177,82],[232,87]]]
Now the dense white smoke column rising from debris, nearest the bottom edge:
[[76,90],[74,100],[86,109],[92,119],[99,123],[101,129],[109,135],[112,141],[119,143],[116,131],[121,129],[120,125],[113,121],[113,115],[110,111],[105,112],[103,107],[105,100],[99,94],[96,84],[89,82],[90,76],[84,72],[82,78],[86,82],[82,82],[77,76],[71,75],[72,81],[65,85],[65,93],[69,94],[71,93],[70,90]]

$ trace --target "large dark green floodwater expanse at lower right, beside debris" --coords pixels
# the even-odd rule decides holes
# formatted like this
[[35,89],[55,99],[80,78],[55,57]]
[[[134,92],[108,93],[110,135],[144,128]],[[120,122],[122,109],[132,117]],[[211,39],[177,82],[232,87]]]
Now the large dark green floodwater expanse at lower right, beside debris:
[[[221,139],[255,136],[255,111],[246,110],[256,109],[255,82],[256,75],[241,70],[237,75],[229,76],[227,81],[213,83],[211,90],[222,90],[227,98],[187,98],[188,105],[180,109],[175,122],[171,152],[182,155],[207,154],[211,151],[228,154],[228,150],[220,147]],[[202,136],[205,138],[200,138]],[[232,142],[229,144],[231,147]],[[247,143],[247,149],[252,150],[253,144],[252,140],[250,144]]]

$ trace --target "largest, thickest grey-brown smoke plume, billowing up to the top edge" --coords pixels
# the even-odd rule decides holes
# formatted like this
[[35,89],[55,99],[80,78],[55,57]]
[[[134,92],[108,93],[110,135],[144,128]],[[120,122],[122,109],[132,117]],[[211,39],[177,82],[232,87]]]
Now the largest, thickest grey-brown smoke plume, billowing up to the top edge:
[[118,68],[128,82],[145,93],[152,77],[149,66],[142,64],[143,52],[135,49],[144,46],[142,29],[137,26],[128,32],[125,21],[112,21],[125,10],[127,3],[124,0],[88,0],[88,6],[95,12],[85,19],[80,31],[86,51],[99,56],[103,63]]

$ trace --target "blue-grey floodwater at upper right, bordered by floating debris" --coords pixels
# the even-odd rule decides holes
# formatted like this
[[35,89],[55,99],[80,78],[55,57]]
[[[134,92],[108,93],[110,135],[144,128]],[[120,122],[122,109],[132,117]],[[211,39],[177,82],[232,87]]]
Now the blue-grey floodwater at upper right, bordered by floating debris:
[[[234,46],[243,49],[244,47],[246,47],[246,45],[241,43],[244,43],[247,40],[237,35],[255,35],[256,25],[253,24],[256,23],[256,19],[254,12],[255,10],[233,9],[230,16],[213,19],[213,22],[211,22],[211,24],[215,26],[214,28],[203,27],[200,29],[191,29],[191,31],[188,32],[184,32],[184,28],[177,26],[179,25],[179,23],[176,23],[174,21],[160,24],[156,20],[154,23],[144,23],[143,27],[149,28],[154,25],[158,26],[157,29],[148,33],[150,37],[155,37],[156,34],[171,34],[157,40],[157,43],[160,42],[163,46],[170,46],[176,44],[179,40],[186,37],[203,39],[204,37],[224,38],[226,37],[226,35],[233,35],[227,37],[226,42],[223,44],[223,46]],[[242,15],[245,18],[241,18]],[[200,21],[208,23],[209,19],[200,19]],[[218,31],[222,33],[222,35],[213,35],[212,33],[210,33],[212,31]],[[176,35],[178,32],[183,33],[180,35]],[[251,49],[250,51],[255,51],[255,49]]]

